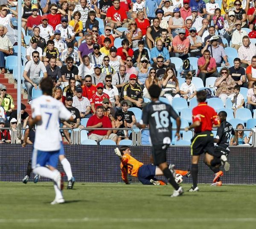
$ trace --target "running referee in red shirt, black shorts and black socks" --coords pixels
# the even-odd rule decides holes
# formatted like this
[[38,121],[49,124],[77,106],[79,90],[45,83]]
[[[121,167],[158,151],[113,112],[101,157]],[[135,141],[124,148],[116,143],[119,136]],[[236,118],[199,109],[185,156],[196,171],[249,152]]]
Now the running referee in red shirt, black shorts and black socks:
[[[208,166],[216,166],[217,163],[224,164],[227,162],[226,158],[214,157],[214,143],[212,127],[219,127],[220,120],[215,110],[208,106],[205,102],[206,92],[201,90],[197,92],[198,106],[192,110],[192,124],[185,128],[185,131],[194,128],[195,135],[191,139],[191,155],[192,155],[192,180],[193,186],[189,189],[189,192],[199,191],[197,186],[198,177],[198,161],[201,154],[205,154],[204,161]],[[229,165],[229,164],[228,164]]]

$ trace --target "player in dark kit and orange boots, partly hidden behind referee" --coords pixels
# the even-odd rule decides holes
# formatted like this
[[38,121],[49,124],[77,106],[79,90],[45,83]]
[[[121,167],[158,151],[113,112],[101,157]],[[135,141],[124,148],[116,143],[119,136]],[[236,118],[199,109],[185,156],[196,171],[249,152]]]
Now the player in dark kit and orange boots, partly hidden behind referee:
[[[221,121],[221,126],[217,129],[217,135],[214,138],[215,149],[214,149],[214,156],[221,158],[222,155],[229,155],[230,149],[228,148],[230,137],[235,134],[235,131],[232,125],[227,122],[227,112],[221,111],[218,113],[218,117]],[[223,172],[220,171],[221,164],[213,167],[210,166],[210,169],[214,172],[214,179],[212,186],[221,186],[222,182],[220,181],[220,177],[223,176]]]

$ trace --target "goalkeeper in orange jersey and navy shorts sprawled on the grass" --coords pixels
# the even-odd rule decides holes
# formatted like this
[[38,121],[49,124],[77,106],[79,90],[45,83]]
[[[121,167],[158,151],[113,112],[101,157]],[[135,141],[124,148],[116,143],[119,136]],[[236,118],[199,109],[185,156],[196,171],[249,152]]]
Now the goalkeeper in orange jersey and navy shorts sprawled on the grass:
[[[121,160],[120,167],[122,171],[122,180],[126,184],[129,184],[127,174],[130,174],[134,177],[138,177],[140,182],[143,184],[166,185],[164,181],[157,180],[157,178],[155,178],[156,176],[163,175],[161,169],[152,164],[144,165],[140,161],[136,160],[134,157],[131,156],[131,150],[129,146],[121,146],[120,150],[116,148],[115,153]],[[170,165],[169,169],[173,170],[174,166]],[[190,170],[183,171],[175,169],[174,171],[175,173],[182,176],[190,176]]]

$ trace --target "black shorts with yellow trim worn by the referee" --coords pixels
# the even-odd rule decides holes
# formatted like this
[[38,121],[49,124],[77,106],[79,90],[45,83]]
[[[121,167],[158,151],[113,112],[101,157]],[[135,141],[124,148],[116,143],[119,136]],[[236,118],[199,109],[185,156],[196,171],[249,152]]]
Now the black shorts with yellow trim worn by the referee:
[[191,139],[192,156],[198,156],[206,152],[214,156],[213,134],[211,131],[197,133]]

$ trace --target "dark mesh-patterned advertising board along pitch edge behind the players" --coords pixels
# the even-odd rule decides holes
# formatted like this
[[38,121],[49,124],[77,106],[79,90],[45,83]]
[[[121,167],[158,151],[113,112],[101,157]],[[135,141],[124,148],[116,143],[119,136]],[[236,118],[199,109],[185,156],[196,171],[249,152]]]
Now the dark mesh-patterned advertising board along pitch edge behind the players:
[[[43,139],[42,139],[43,141]],[[115,155],[116,146],[99,145],[64,145],[66,157],[70,161],[73,176],[77,182],[122,182],[120,160]],[[0,180],[21,182],[26,175],[28,160],[32,155],[32,146],[25,148],[20,144],[1,144],[0,147]],[[148,164],[150,162],[150,146],[131,146],[131,155],[137,160]],[[190,169],[190,147],[170,146],[167,150],[167,161],[176,165],[177,169]],[[221,177],[223,183],[254,184],[256,183],[256,152],[250,147],[232,147],[228,156],[230,171]],[[61,163],[58,169],[63,171]],[[160,177],[163,178],[163,177]],[[29,181],[32,182],[33,174]],[[204,164],[199,163],[198,182],[212,183],[213,172]],[[64,177],[66,181],[67,178]],[[41,178],[40,181],[47,181]],[[137,183],[136,177],[131,178]],[[184,178],[184,183],[191,183],[192,178]],[[25,185],[25,184],[24,184]]]

